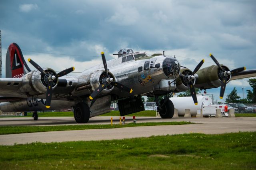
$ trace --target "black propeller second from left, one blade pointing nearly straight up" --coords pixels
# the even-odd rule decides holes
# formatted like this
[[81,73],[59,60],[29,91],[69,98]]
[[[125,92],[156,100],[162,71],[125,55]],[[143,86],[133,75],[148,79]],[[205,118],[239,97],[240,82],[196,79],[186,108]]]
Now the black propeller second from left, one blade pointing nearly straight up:
[[91,100],[94,100],[94,98],[100,94],[100,92],[107,86],[107,85],[113,85],[115,87],[117,87],[118,89],[121,89],[123,91],[127,91],[129,93],[132,93],[132,89],[122,85],[121,83],[118,83],[116,81],[114,81],[114,79],[112,77],[109,76],[108,74],[108,66],[107,66],[107,62],[106,62],[106,58],[105,58],[105,54],[104,52],[101,52],[101,57],[102,57],[102,61],[103,61],[103,65],[104,65],[104,69],[106,72],[106,79],[104,79],[103,81],[105,81],[104,83],[102,83],[97,89],[95,89],[92,94],[89,96],[89,98]]

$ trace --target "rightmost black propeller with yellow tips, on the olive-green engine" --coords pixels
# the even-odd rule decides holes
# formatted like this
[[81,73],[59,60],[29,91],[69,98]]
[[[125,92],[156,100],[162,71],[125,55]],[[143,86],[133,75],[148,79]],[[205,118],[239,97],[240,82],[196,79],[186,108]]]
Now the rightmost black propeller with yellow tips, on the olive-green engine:
[[220,63],[217,61],[217,59],[211,53],[210,53],[210,57],[216,63],[216,65],[218,65],[218,67],[220,68],[220,77],[222,78],[221,87],[220,87],[220,99],[223,99],[224,92],[226,89],[226,84],[228,81],[228,76],[230,76],[230,75],[234,76],[234,75],[236,75],[236,73],[246,70],[246,67],[239,67],[239,68],[233,69],[231,71],[225,70],[221,67]]

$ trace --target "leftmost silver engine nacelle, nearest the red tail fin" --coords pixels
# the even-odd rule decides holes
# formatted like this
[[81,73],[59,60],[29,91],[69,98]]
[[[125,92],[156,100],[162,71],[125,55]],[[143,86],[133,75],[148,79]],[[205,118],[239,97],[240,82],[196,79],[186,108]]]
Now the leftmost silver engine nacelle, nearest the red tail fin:
[[[47,74],[56,75],[53,69],[47,68],[44,70]],[[26,95],[39,95],[46,93],[48,84],[48,77],[46,75],[42,76],[40,71],[34,70],[22,77],[22,87],[20,87],[21,92],[26,92]],[[52,89],[54,89],[58,84],[58,78],[52,81]],[[29,91],[29,92],[28,92]]]

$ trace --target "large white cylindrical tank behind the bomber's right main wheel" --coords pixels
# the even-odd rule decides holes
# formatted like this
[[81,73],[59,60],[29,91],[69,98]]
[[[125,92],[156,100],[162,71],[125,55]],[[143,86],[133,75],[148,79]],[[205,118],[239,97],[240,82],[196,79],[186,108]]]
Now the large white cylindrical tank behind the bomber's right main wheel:
[[192,97],[171,97],[174,108],[178,109],[178,115],[184,116],[185,109],[190,109],[192,116],[196,116],[197,109],[202,109],[202,105],[212,105],[212,99],[209,96],[196,96],[198,105],[194,104]]

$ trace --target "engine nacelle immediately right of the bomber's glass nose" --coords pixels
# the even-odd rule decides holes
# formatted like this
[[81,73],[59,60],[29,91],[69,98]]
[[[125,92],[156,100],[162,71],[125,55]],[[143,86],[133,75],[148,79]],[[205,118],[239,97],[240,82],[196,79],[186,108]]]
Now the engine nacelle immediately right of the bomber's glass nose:
[[[184,75],[192,75],[192,71],[190,69],[181,69],[180,71],[182,74]],[[198,78],[198,75],[195,74],[195,79],[192,80],[193,81],[193,84],[195,84],[196,82],[196,79]],[[189,84],[188,84],[188,81],[186,78],[184,77],[178,77],[176,79],[176,89],[175,89],[175,92],[178,93],[178,92],[182,92],[182,91],[186,91],[189,89]]]

